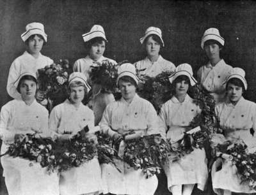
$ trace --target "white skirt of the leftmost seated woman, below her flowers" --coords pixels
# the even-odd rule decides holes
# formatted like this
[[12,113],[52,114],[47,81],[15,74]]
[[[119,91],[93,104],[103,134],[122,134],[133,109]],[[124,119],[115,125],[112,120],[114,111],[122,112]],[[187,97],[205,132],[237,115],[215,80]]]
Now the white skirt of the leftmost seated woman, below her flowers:
[[[2,143],[1,154],[7,147]],[[60,195],[58,174],[49,175],[39,163],[4,155],[1,164],[9,195]]]

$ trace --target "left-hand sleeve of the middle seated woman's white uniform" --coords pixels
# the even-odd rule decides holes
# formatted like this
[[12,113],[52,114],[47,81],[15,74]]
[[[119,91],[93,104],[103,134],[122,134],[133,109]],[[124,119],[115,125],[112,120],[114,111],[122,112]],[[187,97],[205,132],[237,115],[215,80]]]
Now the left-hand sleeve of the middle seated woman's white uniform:
[[107,106],[103,112],[102,119],[100,120],[99,126],[102,133],[109,134],[109,136],[114,136],[116,134],[115,131],[111,129],[109,126],[110,124],[110,117],[111,117],[111,110],[110,107]]

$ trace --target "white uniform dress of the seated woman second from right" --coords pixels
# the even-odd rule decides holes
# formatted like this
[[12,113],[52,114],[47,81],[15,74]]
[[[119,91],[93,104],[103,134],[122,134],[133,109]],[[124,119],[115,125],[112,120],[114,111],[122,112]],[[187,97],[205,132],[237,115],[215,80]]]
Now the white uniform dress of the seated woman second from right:
[[[182,127],[189,126],[191,120],[198,113],[200,113],[200,108],[193,103],[193,99],[188,94],[182,103],[173,96],[161,108],[159,130],[162,134],[167,131],[166,138],[177,141],[180,135],[184,133]],[[179,161],[172,162],[172,157],[170,157],[169,164],[164,164],[163,168],[170,191],[173,185],[182,184],[198,184],[198,189],[204,190],[208,178],[204,148],[194,148],[193,152],[181,157]]]

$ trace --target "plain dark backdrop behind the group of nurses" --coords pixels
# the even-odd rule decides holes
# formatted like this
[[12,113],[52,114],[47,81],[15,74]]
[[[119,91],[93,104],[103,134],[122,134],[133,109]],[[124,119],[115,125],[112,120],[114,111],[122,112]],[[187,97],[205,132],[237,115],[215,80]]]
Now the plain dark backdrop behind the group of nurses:
[[30,22],[45,25],[49,40],[42,54],[54,61],[69,59],[70,64],[86,55],[81,35],[93,24],[105,29],[109,42],[104,55],[131,62],[145,57],[139,39],[147,27],[156,26],[163,32],[161,55],[176,66],[188,62],[194,71],[207,62],[201,37],[205,29],[216,27],[225,38],[221,56],[227,64],[244,68],[249,85],[244,96],[256,101],[254,1],[0,0],[0,106],[10,100],[8,71],[25,50],[20,34]]

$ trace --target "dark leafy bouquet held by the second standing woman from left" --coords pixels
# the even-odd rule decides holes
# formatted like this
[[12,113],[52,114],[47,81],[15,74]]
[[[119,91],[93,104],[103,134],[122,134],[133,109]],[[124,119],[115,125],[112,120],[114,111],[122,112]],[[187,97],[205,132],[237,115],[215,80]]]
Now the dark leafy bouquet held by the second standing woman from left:
[[91,66],[90,80],[92,85],[99,85],[99,92],[109,92],[118,96],[118,88],[116,87],[117,69],[122,63],[113,64],[104,60],[101,63],[98,62],[97,66]]

